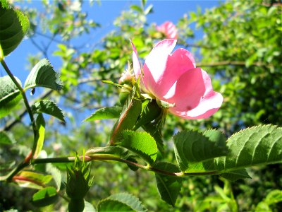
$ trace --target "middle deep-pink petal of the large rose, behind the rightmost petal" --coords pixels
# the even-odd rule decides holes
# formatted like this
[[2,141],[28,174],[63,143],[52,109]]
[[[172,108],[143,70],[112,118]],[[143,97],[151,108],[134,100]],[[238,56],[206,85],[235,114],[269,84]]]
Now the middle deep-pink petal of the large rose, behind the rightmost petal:
[[[156,64],[156,61],[154,64]],[[161,64],[161,61],[159,61],[159,64]],[[148,89],[157,98],[161,98],[166,95],[171,86],[173,86],[183,73],[194,68],[195,60],[192,57],[192,54],[186,49],[176,49],[172,55],[168,55],[164,71],[159,76],[158,81],[154,81],[150,84]],[[148,70],[147,66],[144,66],[144,72],[146,71],[145,73],[147,73],[147,76],[149,76],[155,69],[156,68]]]

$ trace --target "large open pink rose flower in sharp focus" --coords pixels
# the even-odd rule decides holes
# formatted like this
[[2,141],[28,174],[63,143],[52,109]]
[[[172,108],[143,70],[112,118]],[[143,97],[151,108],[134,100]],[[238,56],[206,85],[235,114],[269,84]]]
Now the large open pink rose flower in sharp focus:
[[208,118],[219,110],[223,97],[214,92],[207,72],[196,68],[190,52],[180,48],[171,54],[176,42],[166,39],[155,45],[142,69],[131,43],[135,78],[140,76],[143,92],[174,105],[168,109],[172,114],[185,119]]

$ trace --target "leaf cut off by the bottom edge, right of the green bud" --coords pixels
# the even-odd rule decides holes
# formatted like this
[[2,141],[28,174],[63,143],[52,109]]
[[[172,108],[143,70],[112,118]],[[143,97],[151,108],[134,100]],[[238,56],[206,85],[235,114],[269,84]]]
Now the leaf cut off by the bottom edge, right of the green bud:
[[99,202],[97,211],[147,211],[132,194],[113,194]]

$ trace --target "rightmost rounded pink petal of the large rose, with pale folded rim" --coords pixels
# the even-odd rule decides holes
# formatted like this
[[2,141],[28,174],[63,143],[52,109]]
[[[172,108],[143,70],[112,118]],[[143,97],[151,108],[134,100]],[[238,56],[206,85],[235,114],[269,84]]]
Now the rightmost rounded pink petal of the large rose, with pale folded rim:
[[207,72],[196,68],[183,73],[162,100],[175,103],[169,111],[179,117],[204,119],[219,110],[223,97],[212,90]]

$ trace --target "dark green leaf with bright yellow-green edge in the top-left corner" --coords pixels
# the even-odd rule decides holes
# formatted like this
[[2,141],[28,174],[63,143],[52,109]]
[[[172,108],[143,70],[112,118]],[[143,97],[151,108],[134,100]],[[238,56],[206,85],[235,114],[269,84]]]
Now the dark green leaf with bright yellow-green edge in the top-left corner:
[[30,22],[21,11],[9,8],[7,1],[0,1],[0,49],[4,56],[13,52],[30,28]]

